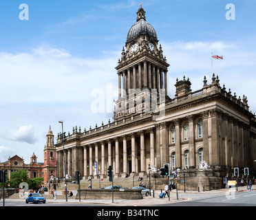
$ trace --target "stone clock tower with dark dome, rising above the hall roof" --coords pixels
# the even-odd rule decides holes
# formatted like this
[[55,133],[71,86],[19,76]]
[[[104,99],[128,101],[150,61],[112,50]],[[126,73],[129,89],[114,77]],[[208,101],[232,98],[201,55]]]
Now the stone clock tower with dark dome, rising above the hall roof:
[[146,12],[140,8],[136,23],[127,34],[118,71],[118,100],[114,120],[123,120],[132,114],[156,112],[160,102],[169,102],[167,68],[169,64],[158,46],[158,36],[147,22]]

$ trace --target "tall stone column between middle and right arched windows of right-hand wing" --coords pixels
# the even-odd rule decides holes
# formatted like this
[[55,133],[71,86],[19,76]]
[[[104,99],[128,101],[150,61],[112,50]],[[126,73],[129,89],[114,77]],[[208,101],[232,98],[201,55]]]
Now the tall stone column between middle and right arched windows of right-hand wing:
[[194,137],[194,117],[189,115],[189,166],[195,168],[195,137]]

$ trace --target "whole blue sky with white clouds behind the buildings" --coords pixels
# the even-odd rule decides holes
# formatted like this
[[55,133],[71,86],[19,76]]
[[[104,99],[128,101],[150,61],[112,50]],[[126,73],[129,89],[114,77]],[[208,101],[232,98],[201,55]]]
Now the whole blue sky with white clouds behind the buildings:
[[[19,5],[29,20],[19,19]],[[235,20],[226,5],[235,5]],[[169,67],[169,96],[175,79],[189,77],[193,91],[211,82],[211,52],[220,85],[244,94],[256,111],[256,2],[225,0],[145,0],[142,7],[153,25]],[[0,161],[19,155],[43,162],[45,135],[56,137],[73,126],[94,128],[107,123],[118,86],[116,65],[140,1],[2,0],[0,14]],[[105,91],[105,111],[92,111],[94,91]]]

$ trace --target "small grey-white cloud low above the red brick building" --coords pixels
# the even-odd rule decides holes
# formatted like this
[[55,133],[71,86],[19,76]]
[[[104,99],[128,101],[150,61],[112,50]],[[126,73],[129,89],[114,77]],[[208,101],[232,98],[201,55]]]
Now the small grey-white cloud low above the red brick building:
[[28,144],[38,142],[38,139],[34,137],[34,126],[32,124],[19,126],[19,129],[16,130],[12,129],[8,135],[2,137],[17,142],[26,142]]

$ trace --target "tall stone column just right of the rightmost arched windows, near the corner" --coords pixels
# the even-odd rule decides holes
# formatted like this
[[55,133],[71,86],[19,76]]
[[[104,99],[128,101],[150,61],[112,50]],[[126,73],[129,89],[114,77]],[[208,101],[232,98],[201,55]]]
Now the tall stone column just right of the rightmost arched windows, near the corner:
[[209,164],[209,129],[208,129],[208,111],[201,113],[203,120],[203,160]]

